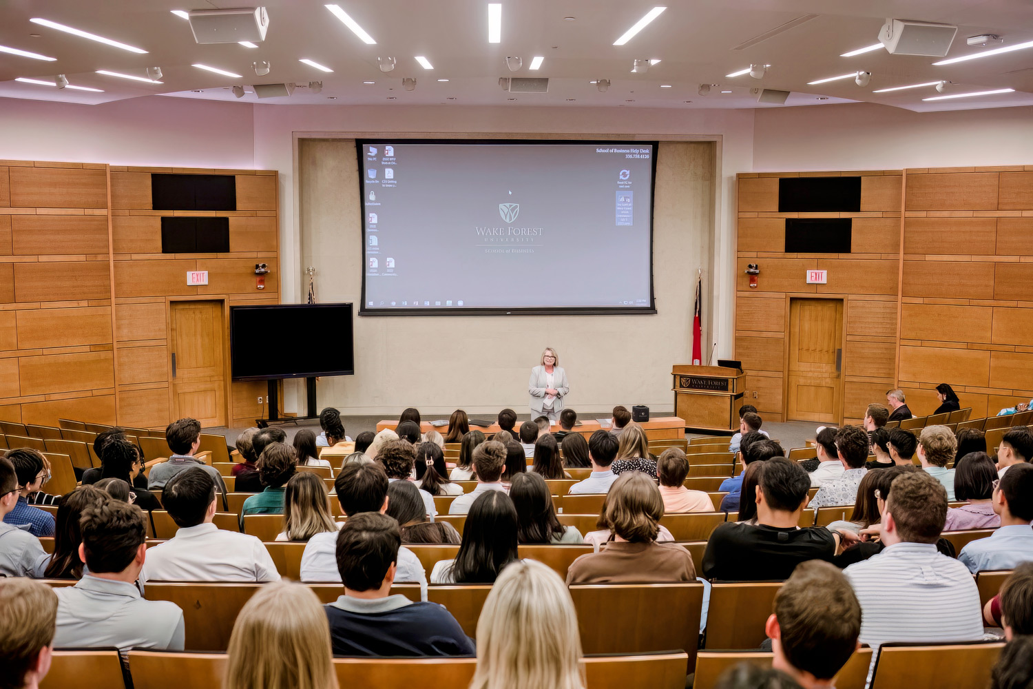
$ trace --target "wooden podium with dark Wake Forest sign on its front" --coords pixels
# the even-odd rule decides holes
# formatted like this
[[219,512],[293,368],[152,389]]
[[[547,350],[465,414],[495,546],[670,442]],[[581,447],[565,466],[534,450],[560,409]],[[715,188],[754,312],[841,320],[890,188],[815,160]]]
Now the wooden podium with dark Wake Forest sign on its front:
[[705,431],[739,430],[746,375],[742,369],[723,366],[676,366],[674,379],[675,415],[685,427]]

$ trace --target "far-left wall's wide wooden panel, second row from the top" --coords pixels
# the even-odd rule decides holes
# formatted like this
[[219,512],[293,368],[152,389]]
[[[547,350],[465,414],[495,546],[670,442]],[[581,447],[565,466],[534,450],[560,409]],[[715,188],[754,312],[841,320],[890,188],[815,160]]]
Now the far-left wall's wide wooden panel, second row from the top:
[[15,215],[13,253],[106,254],[106,215]]

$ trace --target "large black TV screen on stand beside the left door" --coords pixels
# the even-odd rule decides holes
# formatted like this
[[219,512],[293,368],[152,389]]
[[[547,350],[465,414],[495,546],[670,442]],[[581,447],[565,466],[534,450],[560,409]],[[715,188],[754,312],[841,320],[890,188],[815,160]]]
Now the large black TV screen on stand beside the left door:
[[233,380],[353,374],[351,315],[351,304],[231,307]]

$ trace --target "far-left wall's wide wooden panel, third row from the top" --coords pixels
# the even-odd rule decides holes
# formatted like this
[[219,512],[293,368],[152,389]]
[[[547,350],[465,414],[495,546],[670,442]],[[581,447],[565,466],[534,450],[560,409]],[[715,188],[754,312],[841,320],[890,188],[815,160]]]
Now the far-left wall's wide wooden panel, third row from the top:
[[68,302],[111,299],[106,260],[14,264],[19,302]]

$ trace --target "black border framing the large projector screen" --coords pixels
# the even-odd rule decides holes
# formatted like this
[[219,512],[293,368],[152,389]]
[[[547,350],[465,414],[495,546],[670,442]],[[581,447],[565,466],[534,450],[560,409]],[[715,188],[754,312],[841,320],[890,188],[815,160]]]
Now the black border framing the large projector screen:
[[[366,148],[367,146],[400,146],[400,145],[446,145],[446,146],[595,146],[595,147],[649,147],[650,153],[650,197],[649,197],[649,305],[648,306],[612,306],[612,307],[516,307],[516,308],[469,308],[469,307],[433,307],[412,309],[405,307],[378,308],[369,307],[366,295],[366,249],[369,228],[367,225],[366,207]],[[656,285],[653,273],[654,261],[654,203],[656,197],[656,159],[659,149],[658,140],[613,140],[613,139],[565,139],[565,138],[356,138],[355,161],[358,168],[358,214],[362,223],[359,233],[359,255],[362,256],[362,301],[357,315],[359,316],[533,316],[533,315],[649,315],[656,311]]]

